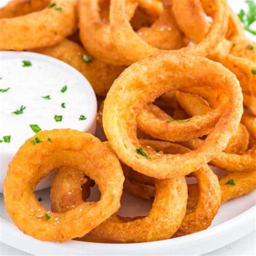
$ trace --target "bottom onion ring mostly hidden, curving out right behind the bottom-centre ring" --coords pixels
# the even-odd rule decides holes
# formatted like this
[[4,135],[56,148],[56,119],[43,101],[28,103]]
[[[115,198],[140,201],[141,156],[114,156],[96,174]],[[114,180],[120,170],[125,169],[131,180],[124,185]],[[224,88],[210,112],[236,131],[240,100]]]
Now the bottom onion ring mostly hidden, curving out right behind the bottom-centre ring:
[[[182,153],[189,151],[185,147],[172,143],[154,142],[143,140],[143,144],[150,145],[151,147],[158,147],[161,151],[167,153]],[[125,183],[124,188],[129,191],[135,191],[139,197],[144,199],[151,199],[154,196],[153,185],[156,179],[143,176],[138,172],[134,172],[129,167],[124,169]],[[212,220],[217,214],[220,201],[221,190],[217,176],[207,165],[204,165],[193,176],[198,179],[198,186],[200,190],[197,204],[192,208],[187,208],[186,215],[179,227],[179,230],[173,237],[180,237],[201,230],[205,230],[211,225]],[[190,197],[190,194],[188,194]]]

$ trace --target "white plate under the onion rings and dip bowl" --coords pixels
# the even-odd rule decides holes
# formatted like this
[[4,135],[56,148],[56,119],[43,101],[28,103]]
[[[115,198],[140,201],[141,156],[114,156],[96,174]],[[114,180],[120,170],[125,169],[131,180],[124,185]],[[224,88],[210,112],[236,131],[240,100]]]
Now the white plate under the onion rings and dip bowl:
[[[0,4],[8,0],[0,0]],[[247,9],[242,0],[228,1],[237,13]],[[255,24],[254,24],[255,25]],[[255,37],[247,33],[255,41]],[[43,204],[49,207],[49,190],[38,191]],[[217,250],[255,230],[256,226],[256,191],[244,197],[233,199],[221,205],[211,227],[207,230],[156,242],[140,244],[96,244],[92,242],[69,241],[63,244],[42,242],[23,234],[11,222],[5,211],[3,196],[0,196],[0,241],[18,250],[31,254],[74,255],[74,254],[203,254]],[[150,203],[124,193],[120,214],[143,215],[150,209]]]

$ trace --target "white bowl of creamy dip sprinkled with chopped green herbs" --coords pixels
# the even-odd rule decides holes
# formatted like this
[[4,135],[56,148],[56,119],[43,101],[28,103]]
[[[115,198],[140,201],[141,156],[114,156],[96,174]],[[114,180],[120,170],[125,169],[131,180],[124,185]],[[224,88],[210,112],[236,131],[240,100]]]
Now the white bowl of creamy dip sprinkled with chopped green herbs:
[[68,64],[38,53],[0,52],[0,192],[8,164],[26,139],[39,130],[95,133],[96,111],[92,87]]

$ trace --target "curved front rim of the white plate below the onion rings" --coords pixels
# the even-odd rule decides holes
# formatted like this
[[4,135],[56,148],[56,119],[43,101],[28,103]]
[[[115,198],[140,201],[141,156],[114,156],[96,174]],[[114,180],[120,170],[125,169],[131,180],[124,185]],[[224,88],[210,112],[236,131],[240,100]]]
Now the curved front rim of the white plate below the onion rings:
[[[9,220],[6,220],[2,217],[0,217],[0,241],[3,242],[6,245],[12,246],[18,250],[28,252],[28,253],[35,253],[41,251],[42,253],[42,246],[45,248],[46,251],[58,251],[58,255],[61,253],[70,254],[70,253],[77,253],[77,254],[91,254],[91,253],[102,253],[102,254],[118,254],[122,252],[126,252],[127,254],[134,254],[141,252],[142,246],[143,246],[143,254],[145,253],[154,253],[156,251],[159,252],[165,251],[170,252],[170,250],[176,250],[176,248],[180,247],[181,245],[184,246],[186,244],[186,247],[189,247],[191,244],[195,246],[199,242],[201,243],[202,240],[209,240],[210,238],[215,236],[220,237],[220,234],[228,234],[232,230],[236,230],[238,227],[244,227],[247,226],[247,230],[244,232],[241,232],[239,237],[234,237],[233,240],[230,242],[233,242],[244,235],[252,232],[256,229],[255,225],[251,225],[251,223],[256,222],[256,205],[253,205],[252,207],[248,208],[245,212],[240,213],[239,215],[224,221],[224,223],[218,224],[216,226],[213,226],[211,228],[208,228],[206,230],[185,235],[184,237],[178,237],[173,239],[166,239],[161,241],[152,241],[152,242],[142,242],[142,243],[133,243],[129,244],[104,244],[104,243],[96,243],[96,242],[81,242],[81,241],[68,241],[65,243],[54,243],[54,242],[43,242],[40,240],[37,240],[35,238],[30,237],[29,235],[24,234],[22,231],[20,231],[14,223],[12,223]],[[247,224],[247,225],[246,225]],[[250,228],[251,227],[251,228]],[[9,239],[9,237],[16,239]],[[18,239],[18,243],[17,243]],[[217,238],[218,239],[218,238]],[[24,244],[27,245],[27,243],[30,242],[30,245],[32,248],[25,248],[24,250]],[[32,244],[31,244],[32,242]],[[230,242],[226,243],[229,244]],[[15,244],[16,243],[16,244]],[[75,247],[76,249],[73,250],[70,247]],[[218,246],[215,246],[213,250],[217,250],[220,247],[223,247],[224,245],[220,244]],[[212,247],[204,248],[203,252],[201,253],[207,253],[212,251]],[[44,252],[44,253],[45,253]],[[37,253],[36,253],[37,254]]]

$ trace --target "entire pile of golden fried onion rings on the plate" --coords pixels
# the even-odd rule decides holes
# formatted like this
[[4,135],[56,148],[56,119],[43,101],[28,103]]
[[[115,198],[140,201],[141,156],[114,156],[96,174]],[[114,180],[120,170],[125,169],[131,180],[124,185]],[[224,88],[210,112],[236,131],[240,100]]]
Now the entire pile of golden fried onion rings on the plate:
[[[107,140],[68,129],[26,140],[4,183],[25,234],[175,239],[255,190],[256,43],[225,0],[12,0],[0,31],[0,50],[60,59],[89,80]],[[34,190],[53,170],[50,211]],[[120,216],[123,193],[152,200],[149,214]]]

